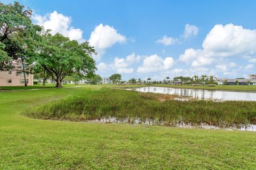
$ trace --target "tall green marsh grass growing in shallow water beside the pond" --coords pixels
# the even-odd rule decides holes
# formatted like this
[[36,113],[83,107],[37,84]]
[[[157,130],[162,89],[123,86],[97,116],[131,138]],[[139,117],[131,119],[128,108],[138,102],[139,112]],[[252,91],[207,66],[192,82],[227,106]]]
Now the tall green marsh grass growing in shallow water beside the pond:
[[[25,113],[29,117],[90,121],[115,118],[118,121],[175,125],[201,123],[219,126],[256,124],[255,101],[172,100],[177,96],[107,89],[52,101]],[[164,99],[164,101],[163,101]]]

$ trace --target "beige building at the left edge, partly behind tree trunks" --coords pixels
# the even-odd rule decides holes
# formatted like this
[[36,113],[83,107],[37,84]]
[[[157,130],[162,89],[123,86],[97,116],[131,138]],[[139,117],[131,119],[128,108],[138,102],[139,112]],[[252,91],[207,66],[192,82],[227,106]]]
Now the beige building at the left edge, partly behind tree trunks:
[[[33,86],[34,75],[26,74],[28,86]],[[0,86],[25,86],[23,73],[18,74],[15,71],[0,72]]]

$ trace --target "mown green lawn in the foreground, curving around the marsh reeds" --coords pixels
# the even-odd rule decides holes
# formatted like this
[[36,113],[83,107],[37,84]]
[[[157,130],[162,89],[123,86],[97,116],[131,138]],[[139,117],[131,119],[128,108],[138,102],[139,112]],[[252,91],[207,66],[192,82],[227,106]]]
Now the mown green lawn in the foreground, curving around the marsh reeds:
[[102,87],[0,92],[0,169],[255,169],[255,132],[21,115],[47,101]]

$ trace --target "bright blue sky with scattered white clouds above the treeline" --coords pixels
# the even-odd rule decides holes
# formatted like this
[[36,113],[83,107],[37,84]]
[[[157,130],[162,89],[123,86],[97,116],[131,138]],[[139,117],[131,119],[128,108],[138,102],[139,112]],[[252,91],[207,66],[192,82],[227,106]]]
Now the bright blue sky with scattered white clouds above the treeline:
[[34,23],[89,40],[102,77],[247,78],[256,72],[256,1],[19,2],[34,11]]

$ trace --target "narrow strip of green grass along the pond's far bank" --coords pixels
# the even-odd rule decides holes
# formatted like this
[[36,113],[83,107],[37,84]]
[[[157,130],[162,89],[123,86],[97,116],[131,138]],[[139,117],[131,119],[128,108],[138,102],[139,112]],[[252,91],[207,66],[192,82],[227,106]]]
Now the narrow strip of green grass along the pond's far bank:
[[159,87],[172,87],[172,88],[189,88],[189,89],[207,89],[207,90],[243,90],[243,91],[256,91],[256,86],[254,85],[216,85],[214,87],[210,86],[188,86],[188,85],[173,85],[173,84],[151,84],[151,86]]

